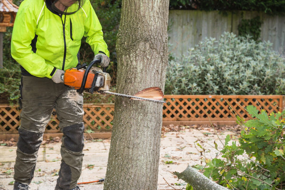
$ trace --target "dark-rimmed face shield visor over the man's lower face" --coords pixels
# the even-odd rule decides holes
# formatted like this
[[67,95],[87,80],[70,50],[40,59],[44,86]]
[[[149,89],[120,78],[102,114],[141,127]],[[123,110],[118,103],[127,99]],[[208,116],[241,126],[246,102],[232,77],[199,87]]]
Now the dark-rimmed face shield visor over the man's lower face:
[[[76,13],[85,3],[85,0],[55,0],[52,3],[52,9],[62,15],[72,15]],[[61,10],[60,7],[64,7]]]

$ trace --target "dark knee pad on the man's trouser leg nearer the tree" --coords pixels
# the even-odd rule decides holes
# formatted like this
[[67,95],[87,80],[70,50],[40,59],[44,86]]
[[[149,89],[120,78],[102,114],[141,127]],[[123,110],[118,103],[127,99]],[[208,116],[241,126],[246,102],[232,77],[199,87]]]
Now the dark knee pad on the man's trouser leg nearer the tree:
[[73,124],[62,129],[64,146],[72,152],[81,152],[84,147],[84,124]]

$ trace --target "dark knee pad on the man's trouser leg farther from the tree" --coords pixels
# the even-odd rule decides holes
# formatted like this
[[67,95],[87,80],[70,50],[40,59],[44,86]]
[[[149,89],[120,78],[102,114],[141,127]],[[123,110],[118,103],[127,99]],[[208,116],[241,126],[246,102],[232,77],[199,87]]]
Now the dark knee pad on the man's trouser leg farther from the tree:
[[42,143],[42,133],[35,133],[24,129],[19,129],[18,148],[25,154],[33,154],[38,151]]

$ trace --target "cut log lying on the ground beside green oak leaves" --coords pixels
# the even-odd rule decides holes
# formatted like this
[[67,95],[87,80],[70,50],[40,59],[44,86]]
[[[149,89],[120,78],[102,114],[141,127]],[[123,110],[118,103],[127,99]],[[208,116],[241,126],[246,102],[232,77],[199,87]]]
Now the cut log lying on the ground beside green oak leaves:
[[228,190],[227,188],[211,181],[205,175],[199,173],[188,164],[183,164],[176,170],[178,171],[173,172],[173,174],[176,175],[178,179],[182,179],[186,183],[192,185],[194,190]]

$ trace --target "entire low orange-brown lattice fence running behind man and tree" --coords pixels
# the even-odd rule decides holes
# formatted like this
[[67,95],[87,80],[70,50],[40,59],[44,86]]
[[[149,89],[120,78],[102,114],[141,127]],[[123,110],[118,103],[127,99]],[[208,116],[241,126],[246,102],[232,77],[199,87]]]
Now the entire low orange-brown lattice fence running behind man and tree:
[[[282,95],[165,95],[164,122],[170,121],[235,121],[235,115],[248,120],[247,105],[271,112],[284,108]],[[84,104],[85,128],[93,131],[110,131],[113,126],[114,104]],[[233,110],[236,112],[234,114]],[[209,117],[209,118],[208,118]],[[46,133],[59,132],[59,120],[53,112]],[[15,134],[20,126],[20,110],[0,104],[0,134]]]

